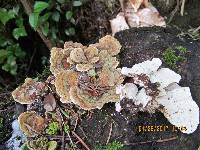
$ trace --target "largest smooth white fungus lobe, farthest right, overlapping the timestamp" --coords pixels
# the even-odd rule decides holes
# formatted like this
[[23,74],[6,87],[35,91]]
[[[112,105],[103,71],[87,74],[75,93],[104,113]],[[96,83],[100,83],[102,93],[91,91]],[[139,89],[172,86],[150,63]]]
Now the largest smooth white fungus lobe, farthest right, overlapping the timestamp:
[[183,133],[192,133],[199,124],[199,107],[192,99],[189,87],[179,87],[157,99],[164,106],[161,110],[169,122]]

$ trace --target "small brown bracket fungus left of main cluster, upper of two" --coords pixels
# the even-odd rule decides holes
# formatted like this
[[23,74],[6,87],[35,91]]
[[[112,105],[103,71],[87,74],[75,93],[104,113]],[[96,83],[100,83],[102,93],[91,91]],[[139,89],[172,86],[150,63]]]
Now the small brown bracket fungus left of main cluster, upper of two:
[[12,92],[14,100],[20,104],[32,104],[38,97],[45,94],[48,87],[43,82],[26,78],[25,83]]

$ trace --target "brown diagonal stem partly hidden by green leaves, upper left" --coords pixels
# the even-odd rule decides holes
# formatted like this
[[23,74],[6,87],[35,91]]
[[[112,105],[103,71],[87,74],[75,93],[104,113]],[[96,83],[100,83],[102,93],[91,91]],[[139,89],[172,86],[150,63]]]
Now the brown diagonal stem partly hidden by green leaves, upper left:
[[[33,12],[33,3],[34,1],[32,0],[20,0],[27,15],[29,16],[32,12]],[[42,33],[42,30],[41,28],[38,28],[37,30],[37,33],[39,34],[39,36],[41,37],[41,39],[43,40],[43,42],[45,43],[45,45],[48,47],[48,49],[50,50],[52,48],[52,42],[46,38],[44,36],[44,34]]]

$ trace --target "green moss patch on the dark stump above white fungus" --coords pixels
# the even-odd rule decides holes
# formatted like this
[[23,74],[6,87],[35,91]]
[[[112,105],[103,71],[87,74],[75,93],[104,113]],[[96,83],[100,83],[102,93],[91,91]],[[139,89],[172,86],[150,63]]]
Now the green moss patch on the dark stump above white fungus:
[[171,68],[175,69],[178,62],[186,60],[184,56],[187,53],[187,49],[183,46],[177,46],[174,49],[167,48],[163,53],[164,62]]

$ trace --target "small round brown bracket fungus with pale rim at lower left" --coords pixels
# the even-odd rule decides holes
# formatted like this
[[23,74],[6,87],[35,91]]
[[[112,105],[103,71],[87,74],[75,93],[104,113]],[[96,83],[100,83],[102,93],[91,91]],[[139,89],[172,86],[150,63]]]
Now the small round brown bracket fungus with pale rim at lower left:
[[41,134],[45,128],[45,119],[37,115],[35,111],[20,114],[18,121],[20,129],[29,137]]

